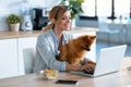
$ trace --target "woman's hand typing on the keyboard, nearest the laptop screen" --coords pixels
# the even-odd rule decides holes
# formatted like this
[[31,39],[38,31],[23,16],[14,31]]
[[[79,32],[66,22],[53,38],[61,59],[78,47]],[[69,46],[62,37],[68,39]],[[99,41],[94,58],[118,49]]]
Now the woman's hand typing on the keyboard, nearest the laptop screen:
[[82,64],[82,70],[87,71],[87,72],[93,72],[96,66],[96,63],[93,61],[88,61],[84,64]]

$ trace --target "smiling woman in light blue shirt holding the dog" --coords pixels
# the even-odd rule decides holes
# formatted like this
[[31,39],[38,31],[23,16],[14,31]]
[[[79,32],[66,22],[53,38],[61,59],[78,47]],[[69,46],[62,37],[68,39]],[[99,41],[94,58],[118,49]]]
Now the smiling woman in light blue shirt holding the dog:
[[56,5],[49,12],[49,20],[50,24],[43,29],[44,33],[37,39],[34,71],[39,72],[46,69],[58,71],[94,70],[94,63],[71,65],[56,60],[59,54],[59,48],[72,39],[70,34],[64,33],[64,30],[70,29],[70,10],[63,5]]

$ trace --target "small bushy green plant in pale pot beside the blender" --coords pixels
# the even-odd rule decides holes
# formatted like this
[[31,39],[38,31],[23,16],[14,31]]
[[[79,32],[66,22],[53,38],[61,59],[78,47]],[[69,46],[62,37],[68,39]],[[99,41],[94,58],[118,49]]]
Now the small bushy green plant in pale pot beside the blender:
[[16,14],[10,14],[7,17],[8,23],[10,24],[11,30],[12,32],[19,32],[20,29],[20,24],[22,22],[21,16],[16,15]]

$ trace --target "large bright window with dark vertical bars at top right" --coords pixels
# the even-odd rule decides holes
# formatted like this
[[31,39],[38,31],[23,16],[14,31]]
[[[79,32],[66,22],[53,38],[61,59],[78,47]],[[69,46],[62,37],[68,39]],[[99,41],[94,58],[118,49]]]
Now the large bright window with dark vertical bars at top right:
[[84,13],[81,16],[88,18],[97,16],[129,17],[131,16],[131,0],[85,0],[82,9]]

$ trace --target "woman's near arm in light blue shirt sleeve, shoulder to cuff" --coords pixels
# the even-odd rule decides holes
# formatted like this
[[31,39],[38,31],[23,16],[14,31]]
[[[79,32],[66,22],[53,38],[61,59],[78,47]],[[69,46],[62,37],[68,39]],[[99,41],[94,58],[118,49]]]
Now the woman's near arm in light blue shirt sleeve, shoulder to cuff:
[[62,67],[64,62],[56,60],[55,46],[50,37],[45,35],[39,36],[36,48],[40,57],[36,58],[39,59],[39,65],[41,69],[47,67],[50,70],[66,71],[66,69]]

